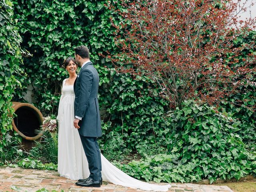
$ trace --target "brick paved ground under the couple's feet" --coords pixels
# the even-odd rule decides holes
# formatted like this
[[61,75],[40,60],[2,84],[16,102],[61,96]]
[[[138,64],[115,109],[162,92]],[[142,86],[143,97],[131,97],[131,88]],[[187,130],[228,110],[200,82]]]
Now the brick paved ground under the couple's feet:
[[[0,192],[11,192],[11,186],[20,188],[20,192],[36,192],[42,188],[55,189],[58,192],[61,189],[65,192],[145,192],[108,182],[103,182],[100,188],[79,187],[74,183],[75,181],[60,177],[56,171],[0,167]],[[168,192],[232,192],[232,190],[227,186],[172,183]]]

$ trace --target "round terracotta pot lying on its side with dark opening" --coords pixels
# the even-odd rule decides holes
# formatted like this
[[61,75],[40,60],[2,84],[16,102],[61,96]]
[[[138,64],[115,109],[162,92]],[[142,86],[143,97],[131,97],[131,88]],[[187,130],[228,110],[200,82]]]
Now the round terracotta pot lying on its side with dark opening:
[[[40,130],[40,126],[43,124],[42,113],[32,104],[28,103],[12,102],[12,108],[14,108],[17,115],[12,121],[13,130],[24,140],[40,140],[42,134],[35,133],[35,131]],[[25,143],[28,142],[25,141]]]

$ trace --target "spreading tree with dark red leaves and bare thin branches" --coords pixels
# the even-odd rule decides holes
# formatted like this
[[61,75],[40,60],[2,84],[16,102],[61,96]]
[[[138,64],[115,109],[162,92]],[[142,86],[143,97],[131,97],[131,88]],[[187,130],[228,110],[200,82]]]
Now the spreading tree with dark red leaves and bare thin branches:
[[190,98],[216,104],[238,86],[256,85],[251,81],[256,56],[248,54],[241,62],[244,47],[233,44],[239,34],[255,29],[255,18],[239,20],[240,0],[123,3],[128,11],[121,14],[128,24],[116,26],[126,30],[125,39],[117,36],[120,54],[113,62],[121,72],[156,82],[170,107]]

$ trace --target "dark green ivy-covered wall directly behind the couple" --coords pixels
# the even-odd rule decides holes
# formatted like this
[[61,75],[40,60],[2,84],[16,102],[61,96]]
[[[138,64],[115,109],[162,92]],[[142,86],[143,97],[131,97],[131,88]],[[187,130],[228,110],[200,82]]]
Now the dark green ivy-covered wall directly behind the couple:
[[[117,74],[110,58],[114,55],[116,25],[124,22],[110,9],[124,11],[114,0],[14,0],[22,48],[32,57],[24,58],[27,84],[34,89],[34,105],[44,115],[56,114],[61,83],[68,74],[62,62],[74,56],[74,47],[86,45],[90,59],[100,74],[99,102],[106,123],[104,138],[122,138],[124,148],[136,148],[147,140],[155,142],[162,134],[161,114],[168,104],[158,97],[154,84],[146,78],[134,80],[129,74]],[[150,86],[150,87],[149,87]],[[18,95],[26,90],[20,90]],[[22,100],[18,96],[17,100]]]

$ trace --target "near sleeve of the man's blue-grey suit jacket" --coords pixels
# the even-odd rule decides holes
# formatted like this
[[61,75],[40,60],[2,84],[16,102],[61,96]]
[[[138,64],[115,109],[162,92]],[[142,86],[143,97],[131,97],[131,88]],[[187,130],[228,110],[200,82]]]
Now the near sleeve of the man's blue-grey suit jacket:
[[79,76],[81,88],[75,116],[83,118],[88,108],[89,98],[92,90],[93,75],[90,70],[83,70]]

